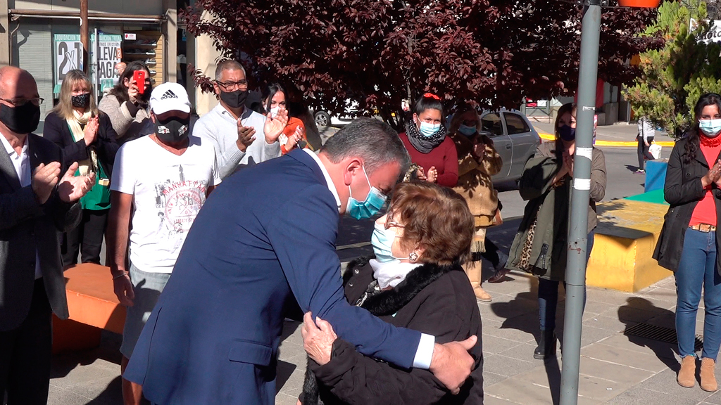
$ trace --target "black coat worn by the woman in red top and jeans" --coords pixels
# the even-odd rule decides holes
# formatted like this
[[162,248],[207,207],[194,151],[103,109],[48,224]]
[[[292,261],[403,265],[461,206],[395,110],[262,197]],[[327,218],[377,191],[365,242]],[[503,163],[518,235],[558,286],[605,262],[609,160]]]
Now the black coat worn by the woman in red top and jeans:
[[[706,195],[701,178],[709,172],[709,164],[704,153],[698,148],[695,159],[688,164],[684,163],[686,143],[688,142],[689,137],[676,142],[671,151],[671,157],[668,158],[663,197],[666,203],[671,204],[671,207],[668,208],[668,212],[663,218],[663,228],[661,228],[658,243],[653,252],[653,258],[658,260],[658,264],[673,272],[678,270],[678,262],[681,262],[684,237],[686,229],[691,223],[691,215],[694,213],[696,204]],[[716,203],[716,218],[721,218],[721,190],[716,184],[712,184],[712,187]],[[717,232],[717,246],[721,246],[720,238],[721,232]],[[721,254],[717,255],[716,260],[716,269],[721,272]]]

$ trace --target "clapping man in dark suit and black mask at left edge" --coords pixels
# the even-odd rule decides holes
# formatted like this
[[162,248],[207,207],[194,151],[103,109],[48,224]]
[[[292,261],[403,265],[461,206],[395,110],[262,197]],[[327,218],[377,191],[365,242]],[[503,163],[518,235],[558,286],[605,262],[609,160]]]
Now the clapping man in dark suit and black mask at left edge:
[[0,398],[47,404],[50,315],[68,318],[61,232],[81,219],[80,199],[94,177],[61,175],[61,150],[31,132],[40,121],[32,76],[0,68]]

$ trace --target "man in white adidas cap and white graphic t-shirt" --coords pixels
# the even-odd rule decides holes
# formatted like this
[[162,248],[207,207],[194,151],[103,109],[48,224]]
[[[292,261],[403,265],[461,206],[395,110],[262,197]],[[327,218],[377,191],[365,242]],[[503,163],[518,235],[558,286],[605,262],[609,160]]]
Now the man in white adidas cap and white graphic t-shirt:
[[[185,88],[177,83],[157,86],[150,109],[154,133],[120,147],[110,184],[112,208],[106,233],[110,272],[115,294],[128,307],[120,346],[121,372],[170,277],[195,215],[221,182],[211,142],[190,135]],[[140,404],[141,390],[123,378],[125,404]]]

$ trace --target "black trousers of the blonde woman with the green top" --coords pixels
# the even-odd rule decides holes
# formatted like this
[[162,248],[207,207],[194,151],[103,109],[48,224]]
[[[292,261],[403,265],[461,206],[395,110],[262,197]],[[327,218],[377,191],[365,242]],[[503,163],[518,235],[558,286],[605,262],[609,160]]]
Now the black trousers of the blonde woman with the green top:
[[[83,210],[83,220],[77,228],[63,235],[63,267],[78,262],[81,253],[82,263],[100,264],[102,237],[107,228],[107,213],[110,210]],[[82,249],[82,252],[80,250]]]

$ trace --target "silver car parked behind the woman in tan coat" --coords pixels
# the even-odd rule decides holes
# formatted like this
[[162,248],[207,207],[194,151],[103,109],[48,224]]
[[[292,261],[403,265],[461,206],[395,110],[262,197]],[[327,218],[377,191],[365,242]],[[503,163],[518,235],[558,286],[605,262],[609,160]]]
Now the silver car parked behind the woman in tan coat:
[[492,177],[493,182],[521,178],[523,166],[541,144],[541,137],[528,118],[517,110],[484,111],[481,127],[503,158],[503,168]]

